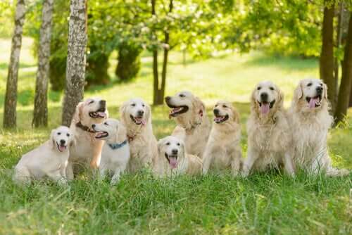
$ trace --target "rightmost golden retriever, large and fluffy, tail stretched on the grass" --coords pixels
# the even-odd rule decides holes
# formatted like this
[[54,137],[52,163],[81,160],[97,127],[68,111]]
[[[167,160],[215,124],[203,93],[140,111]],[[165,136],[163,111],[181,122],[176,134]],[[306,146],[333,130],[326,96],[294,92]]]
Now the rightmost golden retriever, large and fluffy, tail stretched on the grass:
[[326,84],[318,79],[299,82],[289,109],[294,162],[313,174],[320,171],[332,176],[348,174],[348,170],[332,167],[329,157],[327,134],[333,122],[329,109]]

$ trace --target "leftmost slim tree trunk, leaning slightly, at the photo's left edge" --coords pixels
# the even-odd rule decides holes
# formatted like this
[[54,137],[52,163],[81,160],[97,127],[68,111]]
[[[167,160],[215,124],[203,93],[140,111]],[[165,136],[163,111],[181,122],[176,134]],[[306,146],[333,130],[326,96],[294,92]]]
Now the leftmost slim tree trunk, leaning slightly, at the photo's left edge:
[[8,65],[4,105],[4,127],[16,126],[17,80],[23,23],[25,23],[25,0],[18,0],[15,12],[15,30],[11,42],[11,57]]

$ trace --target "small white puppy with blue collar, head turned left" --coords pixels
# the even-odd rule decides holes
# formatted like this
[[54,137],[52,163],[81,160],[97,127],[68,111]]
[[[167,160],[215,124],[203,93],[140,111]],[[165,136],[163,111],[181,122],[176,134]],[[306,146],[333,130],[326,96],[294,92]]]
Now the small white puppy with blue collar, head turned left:
[[118,120],[109,118],[103,123],[93,124],[92,129],[96,132],[96,139],[105,140],[99,165],[101,177],[110,174],[111,184],[117,184],[130,160],[126,128]]

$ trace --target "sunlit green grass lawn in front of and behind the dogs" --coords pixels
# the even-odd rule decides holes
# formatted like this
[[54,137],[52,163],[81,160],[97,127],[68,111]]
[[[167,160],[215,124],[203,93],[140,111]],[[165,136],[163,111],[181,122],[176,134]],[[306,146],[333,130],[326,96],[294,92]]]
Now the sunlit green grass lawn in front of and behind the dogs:
[[[60,124],[62,94],[49,94],[49,127],[32,129],[36,62],[24,40],[21,54],[18,128],[0,129],[0,234],[351,234],[352,174],[329,178],[303,172],[291,179],[277,172],[254,174],[248,179],[229,174],[206,177],[154,179],[149,172],[125,175],[118,186],[99,182],[89,174],[63,189],[50,182],[20,187],[11,180],[11,168],[20,155],[48,138]],[[0,108],[3,108],[9,41],[0,39]],[[115,56],[113,57],[115,58]],[[317,77],[315,60],[272,58],[262,53],[230,54],[208,61],[189,61],[171,54],[166,93],[194,92],[206,102],[208,115],[218,99],[227,99],[241,113],[246,152],[245,122],[249,94],[260,80],[272,80],[286,94],[303,77]],[[116,61],[111,60],[111,75]],[[140,76],[129,84],[92,87],[85,96],[108,100],[109,112],[118,117],[126,99],[152,98],[151,58],[143,58]],[[2,110],[0,122],[2,122]],[[352,168],[352,110],[346,123],[329,134],[334,165]],[[153,130],[158,138],[175,127],[168,108],[153,108]]]

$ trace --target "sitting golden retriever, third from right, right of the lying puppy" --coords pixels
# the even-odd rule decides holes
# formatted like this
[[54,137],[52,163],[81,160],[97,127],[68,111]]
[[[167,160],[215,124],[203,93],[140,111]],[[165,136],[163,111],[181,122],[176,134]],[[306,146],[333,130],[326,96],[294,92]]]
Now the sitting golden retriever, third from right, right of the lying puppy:
[[239,113],[230,102],[219,101],[213,108],[214,124],[203,155],[203,174],[208,170],[241,170],[241,125]]

